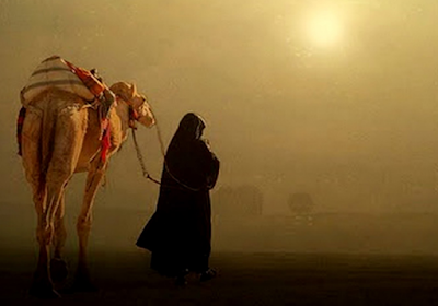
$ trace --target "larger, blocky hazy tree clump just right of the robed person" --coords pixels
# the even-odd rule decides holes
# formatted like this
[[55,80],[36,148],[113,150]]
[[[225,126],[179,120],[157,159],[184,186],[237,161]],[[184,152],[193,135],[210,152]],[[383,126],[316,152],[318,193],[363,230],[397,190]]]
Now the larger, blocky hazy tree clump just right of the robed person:
[[261,215],[263,193],[255,186],[221,187],[212,195],[215,215],[250,216]]

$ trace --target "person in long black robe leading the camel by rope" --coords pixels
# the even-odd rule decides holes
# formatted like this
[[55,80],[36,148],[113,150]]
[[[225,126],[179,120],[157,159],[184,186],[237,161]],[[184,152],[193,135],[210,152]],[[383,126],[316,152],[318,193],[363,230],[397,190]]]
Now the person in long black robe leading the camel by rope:
[[185,284],[188,272],[200,281],[216,275],[209,268],[211,207],[209,190],[219,174],[219,160],[201,138],[204,120],[186,114],[168,148],[157,210],[137,246],[152,252],[151,268]]

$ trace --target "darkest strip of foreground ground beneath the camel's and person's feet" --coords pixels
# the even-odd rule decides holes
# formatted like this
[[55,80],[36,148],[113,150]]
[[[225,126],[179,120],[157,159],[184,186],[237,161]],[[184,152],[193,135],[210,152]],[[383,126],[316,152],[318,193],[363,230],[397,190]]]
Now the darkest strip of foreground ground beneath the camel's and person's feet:
[[[100,290],[41,301],[27,294],[33,250],[2,251],[1,305],[438,305],[438,258],[425,256],[215,252],[219,275],[186,287],[148,268],[149,254],[93,251]],[[74,256],[68,255],[71,269]]]

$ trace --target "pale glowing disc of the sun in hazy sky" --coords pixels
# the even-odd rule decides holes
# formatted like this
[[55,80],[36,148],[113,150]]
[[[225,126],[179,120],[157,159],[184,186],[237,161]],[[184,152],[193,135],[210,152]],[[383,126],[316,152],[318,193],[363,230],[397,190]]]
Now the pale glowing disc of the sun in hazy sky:
[[336,45],[342,38],[342,21],[334,12],[315,12],[306,20],[306,31],[313,46],[330,47]]

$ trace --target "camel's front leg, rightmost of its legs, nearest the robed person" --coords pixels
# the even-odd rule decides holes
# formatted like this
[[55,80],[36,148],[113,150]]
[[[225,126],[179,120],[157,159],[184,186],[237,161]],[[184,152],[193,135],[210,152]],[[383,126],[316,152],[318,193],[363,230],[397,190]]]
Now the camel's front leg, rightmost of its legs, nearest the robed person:
[[79,291],[94,291],[95,286],[90,281],[90,272],[87,260],[87,247],[92,224],[92,209],[94,198],[105,174],[106,164],[102,165],[100,160],[92,164],[87,177],[85,193],[82,209],[78,217],[77,231],[79,237],[79,261],[74,286]]

